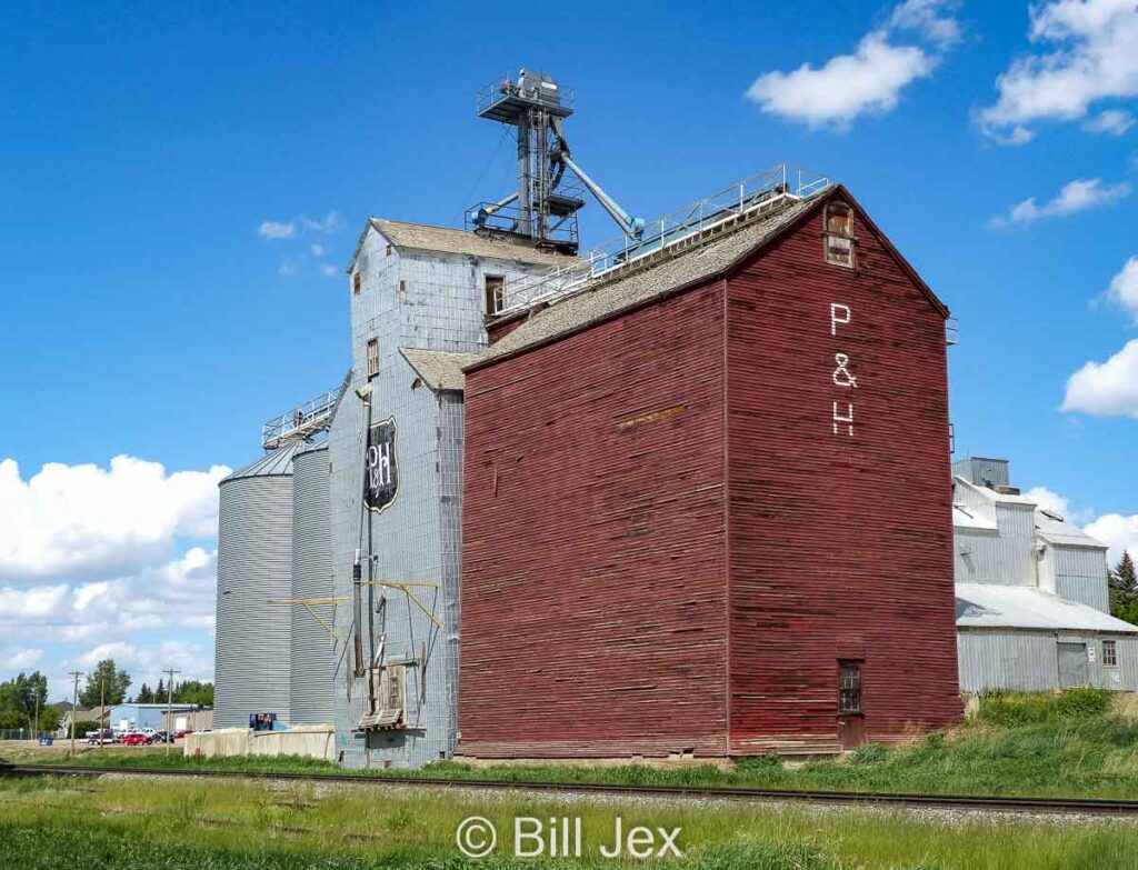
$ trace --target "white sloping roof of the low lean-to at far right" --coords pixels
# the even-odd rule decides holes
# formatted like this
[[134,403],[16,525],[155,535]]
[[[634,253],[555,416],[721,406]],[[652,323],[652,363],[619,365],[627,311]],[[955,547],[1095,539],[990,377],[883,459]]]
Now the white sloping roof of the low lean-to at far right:
[[1138,625],[1031,586],[956,585],[957,628],[1019,628],[1138,635]]

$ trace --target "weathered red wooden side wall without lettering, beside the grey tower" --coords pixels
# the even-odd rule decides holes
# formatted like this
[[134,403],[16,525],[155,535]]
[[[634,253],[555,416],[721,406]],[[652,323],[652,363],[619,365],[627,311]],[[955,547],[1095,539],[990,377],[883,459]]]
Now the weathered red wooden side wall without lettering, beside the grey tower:
[[726,753],[723,312],[468,373],[460,753]]

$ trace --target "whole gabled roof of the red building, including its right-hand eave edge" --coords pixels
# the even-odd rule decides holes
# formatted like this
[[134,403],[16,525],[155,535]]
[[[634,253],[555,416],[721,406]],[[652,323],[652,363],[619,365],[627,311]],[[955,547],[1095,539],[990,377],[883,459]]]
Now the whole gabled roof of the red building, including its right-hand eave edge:
[[791,232],[823,202],[838,194],[850,202],[922,293],[938,312],[947,316],[945,305],[893,248],[849,191],[842,185],[835,185],[811,197],[783,199],[753,219],[742,221],[725,232],[707,232],[702,240],[696,240],[670,257],[659,260],[645,257],[648,265],[644,267],[635,268],[636,260],[633,260],[629,266],[602,273],[547,308],[530,313],[527,321],[490,345],[478,362],[467,368],[478,368],[495,359],[587,329],[654,299],[727,275],[741,268],[783,234]]

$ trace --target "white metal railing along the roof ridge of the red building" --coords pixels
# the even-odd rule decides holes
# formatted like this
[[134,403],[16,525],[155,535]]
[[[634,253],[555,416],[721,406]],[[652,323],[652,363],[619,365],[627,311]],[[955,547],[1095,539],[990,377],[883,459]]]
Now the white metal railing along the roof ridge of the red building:
[[825,190],[830,179],[809,169],[780,163],[765,172],[724,188],[692,205],[649,223],[638,235],[621,234],[583,255],[583,263],[556,266],[505,287],[500,315],[523,310],[569,292],[604,273],[627,267],[653,254],[681,250],[683,242],[726,222],[760,214],[786,199],[805,199]]

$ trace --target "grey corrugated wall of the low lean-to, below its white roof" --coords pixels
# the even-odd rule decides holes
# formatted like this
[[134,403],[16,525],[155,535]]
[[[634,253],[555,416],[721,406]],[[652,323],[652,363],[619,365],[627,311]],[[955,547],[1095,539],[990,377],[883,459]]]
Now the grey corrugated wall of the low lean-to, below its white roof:
[[[1112,639],[1118,665],[1103,664],[1103,640]],[[963,691],[1053,691],[1059,688],[1057,644],[1092,646],[1090,685],[1120,691],[1138,690],[1138,638],[1052,631],[976,631],[962,629],[957,645]]]

